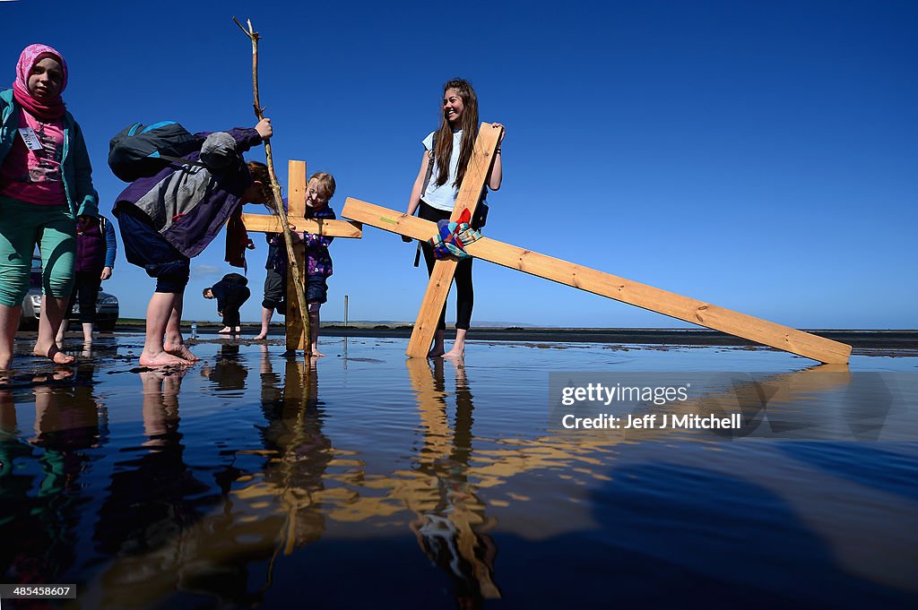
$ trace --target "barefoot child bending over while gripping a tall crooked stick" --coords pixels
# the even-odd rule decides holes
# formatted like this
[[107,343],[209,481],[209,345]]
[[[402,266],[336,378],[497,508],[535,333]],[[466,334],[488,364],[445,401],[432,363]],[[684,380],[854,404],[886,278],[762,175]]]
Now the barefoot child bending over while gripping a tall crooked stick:
[[[274,133],[265,118],[255,128],[230,129],[207,135],[200,152],[185,158],[198,165],[173,163],[150,178],[130,183],[115,202],[121,239],[128,261],[156,279],[147,307],[147,332],[141,366],[182,365],[197,357],[182,337],[182,306],[190,259],[207,247],[229,221],[229,264],[244,264],[246,238],[241,205],[263,204],[270,198],[267,168],[242,160],[241,154]],[[240,251],[229,251],[241,248]],[[163,338],[164,336],[164,338]]]

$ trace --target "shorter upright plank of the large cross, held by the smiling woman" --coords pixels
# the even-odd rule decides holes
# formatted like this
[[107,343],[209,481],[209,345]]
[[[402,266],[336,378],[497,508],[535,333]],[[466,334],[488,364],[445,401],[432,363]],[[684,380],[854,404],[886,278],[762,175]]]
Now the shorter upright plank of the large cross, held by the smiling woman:
[[[458,219],[465,208],[472,216],[475,216],[482,189],[485,188],[487,173],[491,170],[494,153],[498,149],[499,136],[500,131],[492,128],[490,123],[482,123],[478,128],[475,148],[472,150],[472,158],[468,162],[462,186],[459,187],[459,195],[456,197],[453,214],[450,216],[451,220]],[[432,236],[433,233],[424,239]],[[454,260],[444,259],[434,263],[431,279],[427,283],[427,292],[424,293],[424,300],[420,303],[418,319],[411,330],[411,339],[408,350],[405,352],[411,358],[424,358],[431,349],[433,334],[437,330],[437,322],[440,321],[443,305],[446,304],[446,295],[450,292],[455,270],[456,261]]]

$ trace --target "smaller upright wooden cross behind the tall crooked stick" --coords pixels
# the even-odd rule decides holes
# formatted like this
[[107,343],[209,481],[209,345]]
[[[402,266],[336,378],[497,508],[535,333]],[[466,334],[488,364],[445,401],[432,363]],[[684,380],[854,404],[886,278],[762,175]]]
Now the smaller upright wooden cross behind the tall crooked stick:
[[[347,220],[326,220],[323,218],[306,218],[306,161],[289,161],[287,163],[287,220],[295,231],[306,231],[315,235],[330,238],[363,237],[360,223]],[[246,230],[254,233],[283,233],[284,227],[278,216],[265,214],[243,214],[242,224]],[[284,254],[286,254],[284,252]],[[306,246],[294,244],[294,256],[297,265],[306,276]],[[293,273],[287,268],[287,307],[286,307],[286,349],[306,349],[306,331],[303,327],[303,316],[294,305],[292,297],[296,293]]]

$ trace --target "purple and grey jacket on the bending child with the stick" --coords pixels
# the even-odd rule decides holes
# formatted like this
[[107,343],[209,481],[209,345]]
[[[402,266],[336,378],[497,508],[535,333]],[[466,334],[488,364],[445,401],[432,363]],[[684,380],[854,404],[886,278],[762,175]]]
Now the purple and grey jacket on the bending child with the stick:
[[[207,167],[173,163],[150,178],[130,183],[115,200],[113,213],[120,215],[133,205],[150,216],[153,228],[188,258],[197,256],[226,224],[252,185],[252,175],[242,153],[261,144],[253,128],[200,133],[207,137],[200,152],[186,155]],[[228,137],[229,136],[229,137]]]

